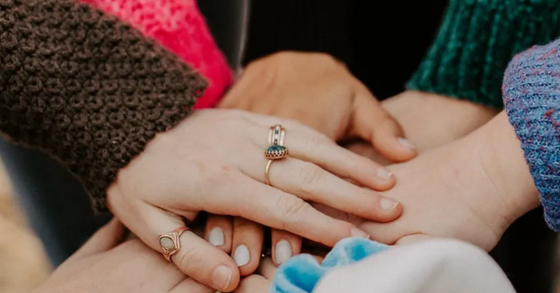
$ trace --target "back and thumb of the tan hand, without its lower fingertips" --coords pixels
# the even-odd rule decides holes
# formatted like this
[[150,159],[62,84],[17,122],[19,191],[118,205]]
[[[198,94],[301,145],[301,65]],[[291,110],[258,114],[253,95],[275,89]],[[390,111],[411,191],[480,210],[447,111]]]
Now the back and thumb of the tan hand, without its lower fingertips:
[[359,137],[394,162],[416,155],[395,119],[326,54],[281,52],[254,61],[220,107],[291,118],[333,140]]

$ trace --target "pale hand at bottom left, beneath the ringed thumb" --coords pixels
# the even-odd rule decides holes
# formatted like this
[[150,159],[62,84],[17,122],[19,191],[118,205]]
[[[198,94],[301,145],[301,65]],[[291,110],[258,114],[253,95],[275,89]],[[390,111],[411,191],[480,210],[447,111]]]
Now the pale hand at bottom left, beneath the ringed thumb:
[[32,293],[213,293],[187,278],[140,240],[123,240],[124,227],[112,220],[60,265]]

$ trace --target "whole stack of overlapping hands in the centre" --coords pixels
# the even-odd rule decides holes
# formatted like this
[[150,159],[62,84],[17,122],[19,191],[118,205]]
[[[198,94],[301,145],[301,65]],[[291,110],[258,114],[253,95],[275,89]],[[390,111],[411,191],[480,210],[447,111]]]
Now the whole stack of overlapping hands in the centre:
[[[138,239],[121,243],[114,220],[38,293],[266,292],[289,257],[351,236],[451,237],[488,251],[538,205],[503,113],[412,91],[378,102],[327,55],[257,60],[220,108],[158,134],[119,172],[108,205]],[[278,124],[289,155],[267,185]],[[169,263],[158,236],[185,225]]]

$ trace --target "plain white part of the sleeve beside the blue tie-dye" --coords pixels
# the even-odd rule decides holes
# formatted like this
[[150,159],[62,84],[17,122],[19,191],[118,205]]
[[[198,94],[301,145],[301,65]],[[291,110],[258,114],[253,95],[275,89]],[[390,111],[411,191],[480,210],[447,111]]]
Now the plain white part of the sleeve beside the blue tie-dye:
[[511,293],[483,250],[456,240],[397,246],[325,275],[313,293]]

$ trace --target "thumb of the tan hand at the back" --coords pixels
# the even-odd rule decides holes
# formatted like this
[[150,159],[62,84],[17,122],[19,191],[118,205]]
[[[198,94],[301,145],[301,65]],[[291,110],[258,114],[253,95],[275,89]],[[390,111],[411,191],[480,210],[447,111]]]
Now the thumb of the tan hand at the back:
[[356,94],[352,132],[371,142],[390,161],[408,161],[417,154],[414,145],[404,138],[400,124],[365,87]]

